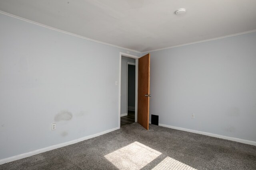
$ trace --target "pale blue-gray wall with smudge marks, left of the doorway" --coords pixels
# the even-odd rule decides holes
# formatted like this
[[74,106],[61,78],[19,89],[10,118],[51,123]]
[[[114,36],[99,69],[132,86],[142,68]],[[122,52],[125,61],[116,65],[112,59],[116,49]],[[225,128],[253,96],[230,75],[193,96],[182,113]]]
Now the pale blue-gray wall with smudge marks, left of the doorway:
[[0,159],[119,126],[126,50],[2,14],[0,25]]

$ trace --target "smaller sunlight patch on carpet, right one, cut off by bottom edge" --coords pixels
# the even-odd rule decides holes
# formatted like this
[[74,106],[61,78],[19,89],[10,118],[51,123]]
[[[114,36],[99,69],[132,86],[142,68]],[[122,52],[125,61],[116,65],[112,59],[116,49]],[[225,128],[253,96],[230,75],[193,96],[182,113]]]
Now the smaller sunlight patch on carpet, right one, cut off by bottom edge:
[[176,159],[167,156],[158,165],[156,165],[152,170],[196,170],[191,166],[188,166]]

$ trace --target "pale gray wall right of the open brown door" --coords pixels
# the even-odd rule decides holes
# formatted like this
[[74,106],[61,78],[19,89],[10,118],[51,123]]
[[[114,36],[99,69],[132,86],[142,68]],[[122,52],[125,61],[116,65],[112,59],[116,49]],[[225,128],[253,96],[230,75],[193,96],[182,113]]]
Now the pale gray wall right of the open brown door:
[[159,123],[256,141],[256,32],[150,54]]

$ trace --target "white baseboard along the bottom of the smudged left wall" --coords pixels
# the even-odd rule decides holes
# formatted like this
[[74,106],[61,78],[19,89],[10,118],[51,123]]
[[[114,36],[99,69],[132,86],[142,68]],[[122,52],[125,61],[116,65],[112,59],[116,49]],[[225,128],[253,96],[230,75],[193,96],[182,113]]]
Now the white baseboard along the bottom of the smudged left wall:
[[115,131],[117,129],[120,129],[120,127],[116,127],[116,128],[113,128],[113,129],[109,129],[109,130],[106,130],[106,131],[103,131],[103,132],[100,132],[100,133],[96,133],[94,135],[89,135],[89,136],[86,136],[86,137],[82,137],[82,138],[79,138],[79,139],[75,139],[73,141],[68,141],[68,142],[65,142],[65,143],[60,143],[60,144],[57,144],[57,145],[52,145],[50,147],[46,147],[46,148],[42,148],[42,149],[37,149],[37,150],[33,150],[31,152],[27,152],[27,153],[23,153],[23,154],[18,154],[18,155],[15,155],[15,156],[11,156],[9,158],[4,158],[4,159],[1,159],[0,160],[0,165],[1,164],[5,164],[7,162],[12,162],[14,160],[18,160],[18,159],[22,159],[22,158],[26,158],[26,157],[29,157],[29,156],[33,156],[35,154],[40,154],[42,152],[46,152],[46,151],[49,151],[49,150],[53,150],[53,149],[57,149],[57,148],[61,148],[61,147],[65,147],[65,146],[68,146],[68,145],[72,145],[74,143],[78,143],[78,142],[81,142],[81,141],[84,141],[86,139],[91,139],[93,137],[97,137],[97,136],[100,136],[100,135],[104,135],[105,133],[109,133],[109,132],[112,132],[112,131]]

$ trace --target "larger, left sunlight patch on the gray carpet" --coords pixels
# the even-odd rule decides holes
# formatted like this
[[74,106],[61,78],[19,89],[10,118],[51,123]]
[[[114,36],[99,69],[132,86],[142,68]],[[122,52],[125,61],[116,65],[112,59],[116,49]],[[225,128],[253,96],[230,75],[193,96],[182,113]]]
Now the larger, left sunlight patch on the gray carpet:
[[139,170],[161,154],[142,143],[134,142],[104,157],[118,169]]

